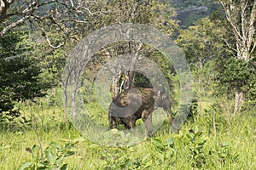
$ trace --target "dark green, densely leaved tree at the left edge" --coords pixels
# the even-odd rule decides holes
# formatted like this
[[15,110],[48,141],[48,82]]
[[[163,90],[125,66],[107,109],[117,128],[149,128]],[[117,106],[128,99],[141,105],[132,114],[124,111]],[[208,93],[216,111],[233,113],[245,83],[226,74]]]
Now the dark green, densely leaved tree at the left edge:
[[0,39],[0,112],[13,109],[15,102],[45,95],[49,88],[30,57],[27,32],[11,31]]

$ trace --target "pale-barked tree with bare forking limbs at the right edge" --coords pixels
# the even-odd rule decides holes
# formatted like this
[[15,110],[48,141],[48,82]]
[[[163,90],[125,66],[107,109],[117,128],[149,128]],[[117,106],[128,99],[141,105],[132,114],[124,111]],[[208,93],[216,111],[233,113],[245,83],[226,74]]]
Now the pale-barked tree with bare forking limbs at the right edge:
[[[227,46],[234,51],[237,59],[249,62],[255,58],[256,0],[218,1],[224,8],[226,19],[231,26],[232,36],[235,37],[235,43],[225,41]],[[241,83],[236,83],[235,89],[234,115],[244,103],[244,91]]]

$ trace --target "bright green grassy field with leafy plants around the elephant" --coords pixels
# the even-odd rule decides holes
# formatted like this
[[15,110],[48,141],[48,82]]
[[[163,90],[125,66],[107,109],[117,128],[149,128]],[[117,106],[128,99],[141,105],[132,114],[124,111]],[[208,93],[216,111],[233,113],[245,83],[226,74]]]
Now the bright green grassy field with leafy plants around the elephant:
[[[94,107],[97,111],[95,105],[90,109]],[[212,111],[203,111],[188,119],[179,133],[170,133],[166,121],[153,138],[131,147],[114,148],[82,138],[70,123],[65,123],[64,111],[57,106],[22,104],[20,108],[32,122],[2,122],[3,170],[19,169],[21,165],[28,169],[256,169],[253,112],[236,116],[216,112],[214,133]]]

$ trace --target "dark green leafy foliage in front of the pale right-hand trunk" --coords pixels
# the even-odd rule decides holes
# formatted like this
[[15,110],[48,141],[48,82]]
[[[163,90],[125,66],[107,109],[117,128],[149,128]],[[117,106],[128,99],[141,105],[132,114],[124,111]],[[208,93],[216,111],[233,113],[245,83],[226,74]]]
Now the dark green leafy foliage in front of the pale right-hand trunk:
[[[255,63],[245,62],[242,59],[219,59],[218,67],[218,90],[230,94],[233,97],[234,88],[241,88],[246,94],[245,102],[249,107],[255,107]],[[249,108],[247,108],[249,109]]]

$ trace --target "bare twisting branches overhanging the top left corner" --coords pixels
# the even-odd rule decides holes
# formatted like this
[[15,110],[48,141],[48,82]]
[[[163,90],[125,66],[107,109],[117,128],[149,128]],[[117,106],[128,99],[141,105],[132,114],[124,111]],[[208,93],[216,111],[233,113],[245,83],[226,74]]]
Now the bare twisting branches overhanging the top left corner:
[[65,42],[53,45],[55,42],[51,42],[53,39],[48,32],[60,31],[61,40],[79,34],[88,24],[87,16],[93,15],[87,3],[79,0],[0,0],[0,24],[3,26],[0,37],[16,27],[33,26],[42,31],[49,47],[60,48]]

